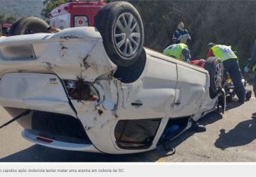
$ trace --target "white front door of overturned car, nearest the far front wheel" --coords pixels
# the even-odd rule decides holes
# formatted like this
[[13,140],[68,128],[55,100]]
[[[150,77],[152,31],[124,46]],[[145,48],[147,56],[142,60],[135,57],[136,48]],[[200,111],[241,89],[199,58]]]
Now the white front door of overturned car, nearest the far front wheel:
[[174,115],[184,117],[198,113],[206,97],[207,74],[203,69],[194,69],[188,64],[177,64],[178,82]]

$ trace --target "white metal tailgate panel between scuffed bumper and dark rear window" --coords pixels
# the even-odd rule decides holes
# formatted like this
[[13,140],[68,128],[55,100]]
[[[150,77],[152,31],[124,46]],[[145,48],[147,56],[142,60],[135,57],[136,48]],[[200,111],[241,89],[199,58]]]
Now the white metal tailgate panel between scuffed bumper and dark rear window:
[[28,108],[75,116],[62,84],[53,74],[5,74],[0,82],[0,95],[0,104],[3,107]]

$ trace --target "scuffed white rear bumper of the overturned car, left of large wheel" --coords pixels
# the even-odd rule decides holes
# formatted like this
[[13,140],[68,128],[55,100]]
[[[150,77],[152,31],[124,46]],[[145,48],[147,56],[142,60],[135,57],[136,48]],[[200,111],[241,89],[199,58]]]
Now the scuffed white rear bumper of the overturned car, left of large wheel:
[[7,72],[28,70],[55,73],[62,79],[75,80],[80,76],[85,81],[95,81],[98,76],[116,68],[110,59],[106,59],[100,33],[92,27],[68,28],[53,35],[44,33],[0,38],[0,50],[14,44],[33,45],[36,59],[15,62],[1,59],[0,76]]

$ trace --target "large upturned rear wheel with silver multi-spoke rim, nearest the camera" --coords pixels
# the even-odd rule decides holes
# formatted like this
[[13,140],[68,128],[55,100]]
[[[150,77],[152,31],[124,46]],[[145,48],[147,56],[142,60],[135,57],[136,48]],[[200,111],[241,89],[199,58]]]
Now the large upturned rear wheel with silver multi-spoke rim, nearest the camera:
[[139,59],[144,45],[142,18],[132,4],[114,1],[95,16],[95,27],[114,64],[129,67]]

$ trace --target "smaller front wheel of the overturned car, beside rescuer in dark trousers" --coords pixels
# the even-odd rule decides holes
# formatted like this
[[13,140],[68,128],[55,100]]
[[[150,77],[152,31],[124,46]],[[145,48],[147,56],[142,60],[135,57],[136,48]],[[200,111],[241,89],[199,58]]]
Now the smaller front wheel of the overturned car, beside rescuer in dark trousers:
[[210,75],[210,98],[215,98],[223,87],[223,63],[218,57],[209,57],[205,69]]

